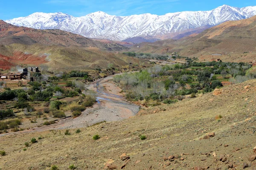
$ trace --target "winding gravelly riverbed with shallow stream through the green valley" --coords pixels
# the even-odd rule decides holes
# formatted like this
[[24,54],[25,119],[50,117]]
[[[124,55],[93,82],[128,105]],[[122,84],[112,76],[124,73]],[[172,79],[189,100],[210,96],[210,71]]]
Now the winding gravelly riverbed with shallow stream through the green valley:
[[[87,127],[102,121],[119,121],[136,115],[140,111],[140,106],[129,103],[119,93],[121,89],[111,82],[112,79],[113,76],[98,79],[87,87],[87,89],[96,92],[97,103],[92,108],[83,111],[81,116],[59,119],[56,124],[34,127],[32,130],[15,133]],[[10,133],[1,134],[0,136],[8,134]]]

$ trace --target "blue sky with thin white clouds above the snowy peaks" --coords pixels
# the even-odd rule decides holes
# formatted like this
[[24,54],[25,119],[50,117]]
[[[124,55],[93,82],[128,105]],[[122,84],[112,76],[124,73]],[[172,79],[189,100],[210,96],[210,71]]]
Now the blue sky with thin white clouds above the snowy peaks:
[[25,17],[34,12],[63,12],[81,17],[91,12],[127,16],[151,13],[163,15],[177,11],[207,11],[221,5],[256,6],[256,0],[2,0],[0,19]]

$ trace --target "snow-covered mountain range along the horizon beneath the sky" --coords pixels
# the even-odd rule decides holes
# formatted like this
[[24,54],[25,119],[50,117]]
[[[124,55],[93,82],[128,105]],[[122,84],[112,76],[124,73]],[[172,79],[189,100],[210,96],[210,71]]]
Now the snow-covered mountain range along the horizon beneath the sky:
[[254,15],[256,6],[236,8],[223,5],[211,11],[184,11],[161,16],[140,14],[119,17],[98,11],[84,17],[73,17],[61,12],[37,12],[6,22],[36,29],[61,29],[90,38],[125,40],[131,37],[177,35],[186,30],[215,26],[228,20],[241,20]]

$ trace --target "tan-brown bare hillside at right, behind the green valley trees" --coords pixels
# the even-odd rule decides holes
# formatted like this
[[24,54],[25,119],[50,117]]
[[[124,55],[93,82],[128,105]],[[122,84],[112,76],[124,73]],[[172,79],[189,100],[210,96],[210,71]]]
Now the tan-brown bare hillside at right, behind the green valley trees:
[[[209,28],[200,34],[180,40],[162,40],[141,43],[133,51],[168,53],[180,52],[183,56],[200,57],[222,53],[241,57],[243,52],[256,51],[256,16],[238,21],[228,21]],[[253,54],[255,57],[255,54]],[[233,58],[229,59],[230,61]]]

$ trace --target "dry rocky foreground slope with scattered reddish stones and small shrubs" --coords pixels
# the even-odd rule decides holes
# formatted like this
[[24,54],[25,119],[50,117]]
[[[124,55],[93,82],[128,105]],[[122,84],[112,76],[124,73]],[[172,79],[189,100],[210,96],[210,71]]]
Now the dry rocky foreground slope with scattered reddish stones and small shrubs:
[[[64,130],[56,129],[2,136],[0,150],[6,156],[0,157],[0,167],[45,170],[55,164],[66,170],[74,164],[78,170],[98,170],[105,165],[106,169],[128,170],[240,170],[247,166],[253,170],[256,80],[221,91],[217,96],[208,93],[146,108],[130,119],[81,128],[81,133],[72,129],[71,135],[64,135]],[[96,134],[101,139],[93,140]],[[146,139],[140,140],[140,135]],[[24,142],[38,136],[43,139],[23,151]],[[122,157],[126,161],[120,159],[122,153],[129,156]]]

